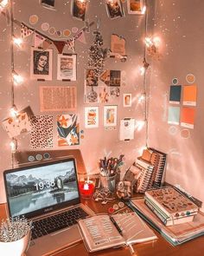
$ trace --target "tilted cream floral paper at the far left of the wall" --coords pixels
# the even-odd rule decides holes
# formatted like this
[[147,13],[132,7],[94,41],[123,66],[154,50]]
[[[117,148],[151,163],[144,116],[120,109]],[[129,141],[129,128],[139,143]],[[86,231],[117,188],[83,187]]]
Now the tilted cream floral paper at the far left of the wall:
[[31,130],[29,117],[33,115],[30,107],[23,108],[16,117],[8,117],[3,120],[2,125],[10,138],[16,137]]

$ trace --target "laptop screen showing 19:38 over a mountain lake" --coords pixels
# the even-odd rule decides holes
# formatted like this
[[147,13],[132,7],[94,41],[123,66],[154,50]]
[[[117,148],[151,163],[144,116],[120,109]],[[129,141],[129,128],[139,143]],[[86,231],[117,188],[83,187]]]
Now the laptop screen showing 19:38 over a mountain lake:
[[3,173],[10,216],[34,217],[80,202],[74,159]]

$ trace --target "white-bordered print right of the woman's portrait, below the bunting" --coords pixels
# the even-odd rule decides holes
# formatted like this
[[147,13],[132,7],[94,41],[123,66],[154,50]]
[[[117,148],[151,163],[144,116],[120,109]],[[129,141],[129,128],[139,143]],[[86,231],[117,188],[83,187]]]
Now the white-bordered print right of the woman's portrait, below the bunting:
[[57,59],[57,80],[76,81],[76,55],[59,54]]

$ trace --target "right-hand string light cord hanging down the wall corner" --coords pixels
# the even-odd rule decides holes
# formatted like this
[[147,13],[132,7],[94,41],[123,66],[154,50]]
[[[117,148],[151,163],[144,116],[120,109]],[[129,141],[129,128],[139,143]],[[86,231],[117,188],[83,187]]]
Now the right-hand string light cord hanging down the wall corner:
[[[145,5],[147,6],[147,3],[145,3]],[[147,37],[147,30],[148,30],[148,8],[146,9],[145,14],[144,14],[144,35],[145,35],[145,37]],[[149,63],[146,62],[146,55],[147,55],[147,48],[146,48],[146,44],[144,43],[144,48],[143,48],[144,121],[145,121],[145,125],[146,125],[146,130],[145,130],[145,146],[146,146],[146,148],[148,148],[148,140],[149,140],[148,128],[149,128],[149,123],[148,123],[148,102],[147,102],[147,68],[149,66]]]

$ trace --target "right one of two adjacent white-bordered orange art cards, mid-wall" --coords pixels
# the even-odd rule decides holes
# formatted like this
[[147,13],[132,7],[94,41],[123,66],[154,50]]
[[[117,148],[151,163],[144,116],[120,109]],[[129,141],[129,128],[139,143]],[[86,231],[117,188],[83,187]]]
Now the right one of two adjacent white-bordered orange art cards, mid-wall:
[[104,126],[117,126],[117,106],[104,106]]

